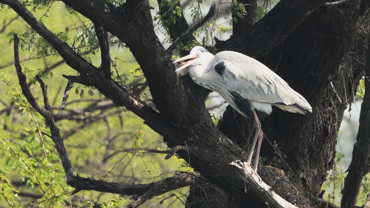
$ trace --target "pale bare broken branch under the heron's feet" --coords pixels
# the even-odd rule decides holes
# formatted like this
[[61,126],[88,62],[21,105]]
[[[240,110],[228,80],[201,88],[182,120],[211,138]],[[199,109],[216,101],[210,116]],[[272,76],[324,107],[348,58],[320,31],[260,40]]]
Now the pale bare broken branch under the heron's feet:
[[[252,168],[247,165],[246,162],[242,163],[241,161],[237,160],[235,162],[231,162],[230,164],[236,167],[236,172],[238,175],[240,175],[243,181],[253,189],[255,194],[265,199],[265,201],[268,202],[272,208],[298,208],[277,195],[272,190],[274,185],[269,187],[267,184],[265,184],[265,182],[260,182],[257,175],[253,173]],[[275,186],[277,181],[278,180],[274,182]]]

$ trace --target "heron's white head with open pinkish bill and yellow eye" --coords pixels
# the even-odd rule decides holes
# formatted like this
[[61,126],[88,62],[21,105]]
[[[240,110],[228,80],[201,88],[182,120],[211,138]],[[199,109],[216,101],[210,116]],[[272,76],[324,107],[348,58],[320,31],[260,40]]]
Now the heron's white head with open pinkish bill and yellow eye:
[[188,60],[185,63],[182,63],[181,67],[176,70],[176,71],[179,71],[191,65],[201,65],[201,64],[206,65],[208,64],[208,62],[211,60],[212,57],[213,57],[213,54],[209,53],[202,46],[195,46],[194,48],[191,49],[190,54],[188,56],[179,58],[178,60],[175,60],[172,63]]

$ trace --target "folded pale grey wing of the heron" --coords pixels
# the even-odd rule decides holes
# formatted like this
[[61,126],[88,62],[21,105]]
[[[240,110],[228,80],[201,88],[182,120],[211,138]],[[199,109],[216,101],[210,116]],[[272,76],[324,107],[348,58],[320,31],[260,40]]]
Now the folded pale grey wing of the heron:
[[220,63],[224,68],[222,76],[226,86],[243,98],[277,105],[296,105],[312,111],[302,95],[259,61],[234,51],[222,51],[213,59],[215,70]]

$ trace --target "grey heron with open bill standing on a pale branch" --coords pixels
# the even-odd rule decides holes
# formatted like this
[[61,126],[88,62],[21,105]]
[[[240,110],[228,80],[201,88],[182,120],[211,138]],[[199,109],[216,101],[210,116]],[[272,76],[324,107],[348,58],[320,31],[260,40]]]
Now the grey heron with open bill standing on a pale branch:
[[307,100],[289,87],[281,77],[259,61],[235,51],[222,51],[213,55],[196,46],[188,56],[179,58],[182,63],[176,71],[189,67],[189,75],[196,84],[218,92],[245,117],[253,120],[256,133],[247,163],[252,161],[258,139],[253,171],[257,173],[259,151],[263,138],[261,123],[255,110],[271,114],[272,105],[292,113],[312,113]]

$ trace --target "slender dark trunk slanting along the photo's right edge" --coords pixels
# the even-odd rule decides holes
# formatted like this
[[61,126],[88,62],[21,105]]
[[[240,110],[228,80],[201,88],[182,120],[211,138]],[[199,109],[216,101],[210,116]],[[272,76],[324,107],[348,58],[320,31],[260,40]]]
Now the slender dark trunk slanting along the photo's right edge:
[[[369,38],[369,36],[368,36]],[[367,45],[365,88],[370,89],[370,43]],[[344,179],[343,198],[341,208],[352,208],[356,205],[357,195],[364,175],[369,172],[367,168],[370,162],[370,91],[365,91],[363,103],[361,104],[360,124],[356,143],[353,145],[351,164],[348,174]]]

